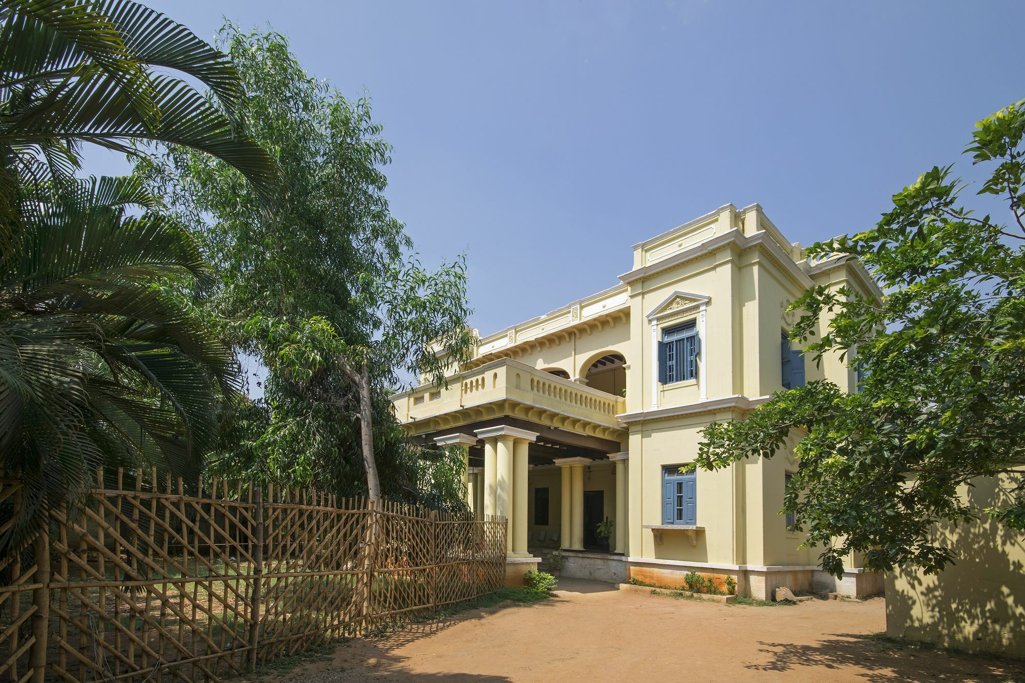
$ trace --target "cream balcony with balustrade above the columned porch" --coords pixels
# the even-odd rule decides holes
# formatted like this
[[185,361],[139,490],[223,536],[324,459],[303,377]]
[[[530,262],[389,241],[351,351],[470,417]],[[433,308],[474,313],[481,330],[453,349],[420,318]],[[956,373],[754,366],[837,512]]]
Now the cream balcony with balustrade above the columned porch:
[[392,398],[396,416],[414,434],[510,415],[618,440],[616,415],[626,400],[507,358],[449,377],[448,388],[418,387]]

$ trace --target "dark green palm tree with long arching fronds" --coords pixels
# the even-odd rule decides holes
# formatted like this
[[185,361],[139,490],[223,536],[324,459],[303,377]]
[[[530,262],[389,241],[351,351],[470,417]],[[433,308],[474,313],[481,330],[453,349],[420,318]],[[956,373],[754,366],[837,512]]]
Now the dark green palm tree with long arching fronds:
[[84,144],[182,145],[236,168],[270,208],[277,166],[245,135],[243,105],[228,57],[159,12],[0,0],[0,470],[24,486],[0,551],[101,463],[202,465],[217,397],[240,379],[191,313],[209,276],[200,248],[136,180],[74,173]]

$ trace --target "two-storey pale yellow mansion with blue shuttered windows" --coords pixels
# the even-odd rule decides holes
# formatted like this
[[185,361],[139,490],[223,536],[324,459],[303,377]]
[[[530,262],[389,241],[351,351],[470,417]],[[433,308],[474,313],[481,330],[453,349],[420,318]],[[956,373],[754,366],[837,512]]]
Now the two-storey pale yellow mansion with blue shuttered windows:
[[482,337],[447,388],[397,394],[396,412],[418,438],[465,448],[470,507],[508,519],[510,580],[562,548],[567,576],[879,593],[857,558],[836,579],[799,548],[780,514],[789,453],[686,468],[705,425],[773,392],[856,389],[838,357],[819,366],[786,339],[787,307],[813,285],[879,293],[857,263],[810,263],[761,206],[727,204],[634,244],[615,286]]

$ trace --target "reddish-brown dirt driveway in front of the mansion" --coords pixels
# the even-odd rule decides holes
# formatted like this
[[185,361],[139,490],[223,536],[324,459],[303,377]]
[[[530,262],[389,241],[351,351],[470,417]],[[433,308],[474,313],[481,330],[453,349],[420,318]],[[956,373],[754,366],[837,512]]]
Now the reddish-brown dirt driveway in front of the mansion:
[[884,600],[740,607],[564,578],[554,600],[473,610],[339,645],[264,681],[1020,680],[1007,661],[899,648]]

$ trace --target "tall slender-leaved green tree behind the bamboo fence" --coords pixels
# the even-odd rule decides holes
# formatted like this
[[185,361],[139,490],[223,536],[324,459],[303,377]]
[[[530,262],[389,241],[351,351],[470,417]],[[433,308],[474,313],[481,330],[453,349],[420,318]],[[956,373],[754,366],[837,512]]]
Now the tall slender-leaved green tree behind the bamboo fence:
[[[383,195],[391,147],[367,99],[306,74],[277,33],[229,25],[219,44],[244,83],[252,134],[282,168],[277,211],[263,211],[230,166],[180,147],[136,167],[208,246],[220,274],[210,319],[269,369],[263,398],[232,417],[242,434],[216,471],[456,501],[451,457],[405,439],[387,397],[408,373],[444,381],[465,360],[463,260],[430,272],[410,256]],[[438,467],[426,485],[429,464]]]

